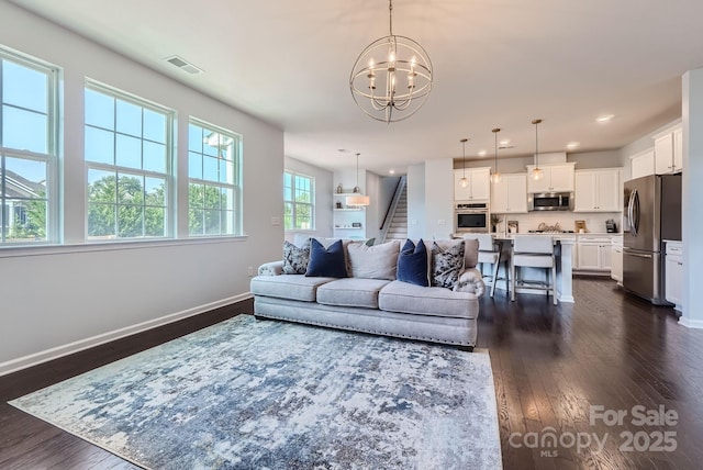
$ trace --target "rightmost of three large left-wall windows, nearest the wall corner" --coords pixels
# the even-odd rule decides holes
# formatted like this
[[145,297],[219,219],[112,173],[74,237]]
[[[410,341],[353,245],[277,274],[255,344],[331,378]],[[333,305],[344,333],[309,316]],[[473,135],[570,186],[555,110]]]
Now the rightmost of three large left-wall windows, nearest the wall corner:
[[188,234],[242,235],[242,136],[188,123]]

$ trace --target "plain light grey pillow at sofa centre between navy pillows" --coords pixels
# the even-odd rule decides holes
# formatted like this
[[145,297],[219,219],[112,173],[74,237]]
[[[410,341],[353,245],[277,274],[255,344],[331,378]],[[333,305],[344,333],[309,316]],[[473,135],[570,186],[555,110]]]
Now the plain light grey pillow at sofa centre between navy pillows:
[[349,256],[349,276],[365,279],[395,280],[400,242],[368,246],[362,243],[347,245]]

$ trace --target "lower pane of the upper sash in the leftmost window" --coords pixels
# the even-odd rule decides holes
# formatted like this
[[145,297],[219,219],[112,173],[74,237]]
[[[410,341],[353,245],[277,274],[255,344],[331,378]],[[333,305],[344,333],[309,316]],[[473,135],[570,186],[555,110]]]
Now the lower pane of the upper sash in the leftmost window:
[[47,116],[8,105],[2,107],[2,145],[21,150],[48,153]]

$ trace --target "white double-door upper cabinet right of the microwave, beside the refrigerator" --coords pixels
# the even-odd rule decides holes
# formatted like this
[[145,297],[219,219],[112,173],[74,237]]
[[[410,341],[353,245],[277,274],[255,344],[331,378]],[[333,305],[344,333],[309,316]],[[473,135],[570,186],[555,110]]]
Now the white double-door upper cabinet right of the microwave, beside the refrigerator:
[[576,171],[574,212],[622,211],[622,187],[620,168]]

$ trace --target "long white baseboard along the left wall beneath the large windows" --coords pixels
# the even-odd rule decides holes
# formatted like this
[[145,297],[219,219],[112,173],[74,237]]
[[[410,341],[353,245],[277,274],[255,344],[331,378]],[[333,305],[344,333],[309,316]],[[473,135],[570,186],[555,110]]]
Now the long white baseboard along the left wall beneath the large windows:
[[249,292],[239,294],[239,295],[234,295],[228,299],[222,299],[216,302],[211,302],[204,305],[198,305],[192,309],[183,310],[181,312],[171,313],[169,315],[165,315],[159,318],[149,320],[148,322],[125,326],[124,328],[114,329],[112,332],[103,333],[97,336],[92,336],[90,338],[80,339],[74,343],[69,343],[67,345],[57,346],[51,349],[45,349],[40,352],[31,354],[29,356],[23,356],[5,362],[0,362],[0,377],[5,376],[8,373],[16,372],[18,370],[26,369],[27,367],[40,365],[42,362],[46,362],[53,359],[58,359],[59,357],[68,356],[85,349],[100,346],[105,343],[114,342],[115,339],[121,339],[126,336],[134,335],[136,333],[146,332],[147,329],[168,325],[169,323],[178,322],[179,320],[200,315],[201,313],[210,312],[211,310],[215,310],[221,306],[226,306],[233,303],[242,302],[247,299],[252,299],[252,296],[253,295]]

